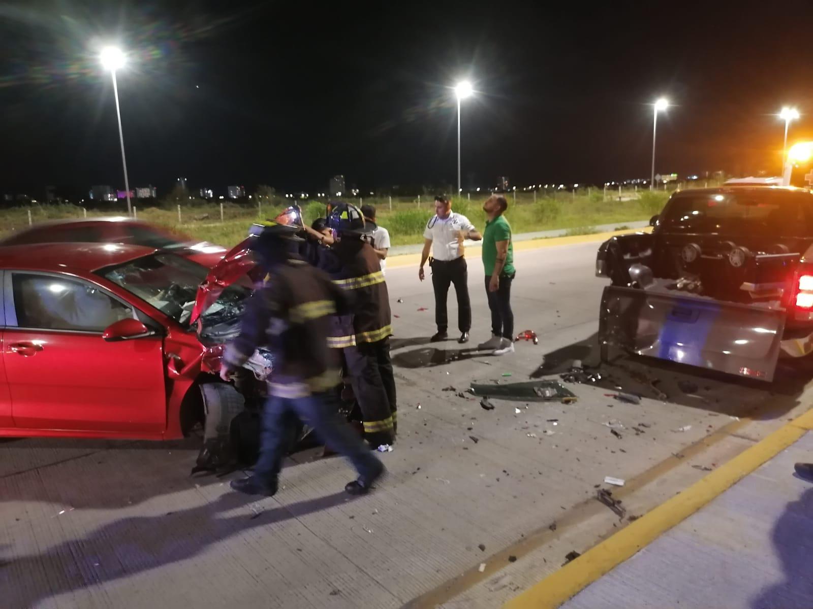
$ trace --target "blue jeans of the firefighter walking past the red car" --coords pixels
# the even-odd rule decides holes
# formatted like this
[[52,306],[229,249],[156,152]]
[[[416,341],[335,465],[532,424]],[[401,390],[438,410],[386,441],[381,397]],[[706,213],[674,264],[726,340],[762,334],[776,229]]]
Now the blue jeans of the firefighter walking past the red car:
[[369,477],[381,467],[359,435],[338,414],[332,393],[317,393],[302,398],[280,398],[272,395],[263,408],[263,431],[254,473],[267,480],[275,479],[285,458],[287,430],[299,419],[311,425],[322,441],[341,456],[345,456],[359,476]]

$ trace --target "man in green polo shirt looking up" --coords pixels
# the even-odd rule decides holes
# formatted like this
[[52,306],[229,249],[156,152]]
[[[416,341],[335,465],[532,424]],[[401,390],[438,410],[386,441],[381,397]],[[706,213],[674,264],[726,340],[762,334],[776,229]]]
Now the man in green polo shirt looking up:
[[478,349],[493,355],[514,352],[514,313],[511,311],[511,282],[514,280],[514,246],[511,244],[511,225],[506,220],[508,201],[502,195],[493,195],[483,204],[486,218],[483,231],[483,267],[485,293],[491,309],[491,339],[478,345]]

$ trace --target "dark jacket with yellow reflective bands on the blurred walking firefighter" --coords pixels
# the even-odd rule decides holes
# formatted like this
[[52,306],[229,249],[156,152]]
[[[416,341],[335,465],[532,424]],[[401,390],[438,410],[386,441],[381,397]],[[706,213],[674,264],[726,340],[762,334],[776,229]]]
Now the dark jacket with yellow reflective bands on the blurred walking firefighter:
[[249,297],[240,335],[226,348],[224,361],[240,367],[265,346],[274,358],[272,395],[326,391],[339,381],[337,353],[326,341],[330,318],[348,307],[347,295],[322,271],[301,259],[276,264]]

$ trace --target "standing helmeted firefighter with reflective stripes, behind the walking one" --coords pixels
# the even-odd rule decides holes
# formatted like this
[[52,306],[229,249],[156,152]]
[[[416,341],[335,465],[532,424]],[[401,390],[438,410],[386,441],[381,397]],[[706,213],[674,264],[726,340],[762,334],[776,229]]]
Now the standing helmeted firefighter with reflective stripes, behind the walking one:
[[359,208],[346,203],[328,205],[331,247],[341,262],[333,283],[353,296],[349,333],[333,336],[328,344],[341,347],[351,384],[362,413],[364,437],[372,447],[392,444],[397,428],[395,378],[389,356],[389,294],[379,257],[369,237],[376,225],[366,222]]

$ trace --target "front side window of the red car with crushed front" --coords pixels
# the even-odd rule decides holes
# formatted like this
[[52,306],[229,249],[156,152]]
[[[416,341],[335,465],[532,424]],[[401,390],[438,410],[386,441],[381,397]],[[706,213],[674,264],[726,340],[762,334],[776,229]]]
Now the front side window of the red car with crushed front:
[[80,279],[12,273],[17,326],[39,330],[102,332],[133,309]]

